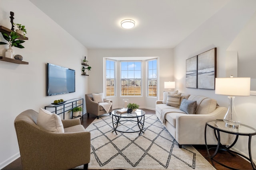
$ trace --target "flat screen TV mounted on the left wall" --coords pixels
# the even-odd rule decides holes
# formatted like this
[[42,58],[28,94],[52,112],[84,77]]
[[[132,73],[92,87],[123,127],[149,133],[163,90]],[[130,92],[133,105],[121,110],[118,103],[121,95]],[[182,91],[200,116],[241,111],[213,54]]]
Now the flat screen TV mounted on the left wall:
[[47,63],[47,96],[76,92],[75,70]]

